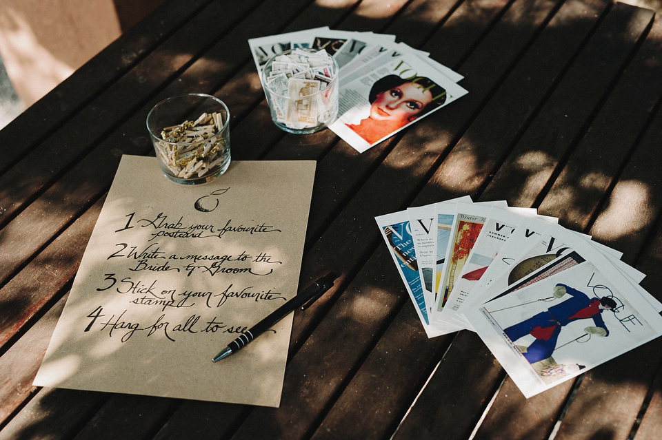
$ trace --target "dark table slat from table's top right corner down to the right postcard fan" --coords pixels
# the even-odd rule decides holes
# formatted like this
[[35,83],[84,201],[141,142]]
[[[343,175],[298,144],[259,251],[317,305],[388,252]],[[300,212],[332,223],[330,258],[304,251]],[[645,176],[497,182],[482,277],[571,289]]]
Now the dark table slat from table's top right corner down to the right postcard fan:
[[[650,11],[616,3],[485,189],[486,198],[494,197],[497,187],[513,188],[524,182],[525,191],[508,194],[510,204],[532,206],[541,198],[556,166],[565,163],[574,143],[585,133],[596,101],[610,90],[652,19]],[[623,28],[631,32],[625,33]],[[528,151],[541,151],[544,161],[522,173],[517,160]]]

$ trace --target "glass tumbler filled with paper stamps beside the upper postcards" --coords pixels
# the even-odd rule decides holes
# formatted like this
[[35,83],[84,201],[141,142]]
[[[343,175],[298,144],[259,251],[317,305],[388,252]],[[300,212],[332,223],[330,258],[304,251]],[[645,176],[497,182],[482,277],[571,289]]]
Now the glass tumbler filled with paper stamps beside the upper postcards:
[[325,50],[289,50],[264,69],[263,85],[275,121],[290,129],[307,129],[326,124],[337,114],[338,72]]

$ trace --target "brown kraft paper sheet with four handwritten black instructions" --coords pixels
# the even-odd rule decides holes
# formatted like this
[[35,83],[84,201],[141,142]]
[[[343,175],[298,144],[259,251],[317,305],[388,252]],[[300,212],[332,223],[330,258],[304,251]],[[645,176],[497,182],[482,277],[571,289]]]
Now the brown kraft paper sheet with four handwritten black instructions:
[[233,162],[205,185],[123,156],[34,385],[279,406],[314,161]]

